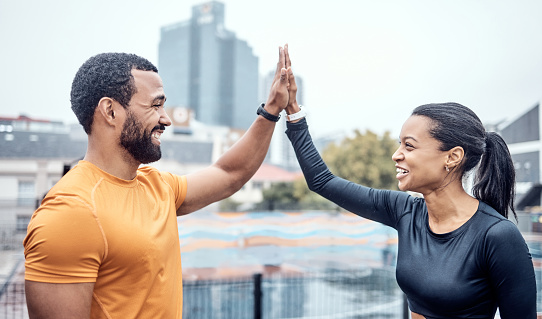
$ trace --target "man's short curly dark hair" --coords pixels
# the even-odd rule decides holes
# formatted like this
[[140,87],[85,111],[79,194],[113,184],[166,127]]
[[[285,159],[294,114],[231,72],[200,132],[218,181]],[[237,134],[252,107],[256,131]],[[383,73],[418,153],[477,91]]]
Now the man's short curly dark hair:
[[158,72],[147,59],[129,53],[101,53],[79,68],[72,82],[72,110],[90,134],[94,111],[103,97],[110,97],[128,107],[137,89],[132,69]]

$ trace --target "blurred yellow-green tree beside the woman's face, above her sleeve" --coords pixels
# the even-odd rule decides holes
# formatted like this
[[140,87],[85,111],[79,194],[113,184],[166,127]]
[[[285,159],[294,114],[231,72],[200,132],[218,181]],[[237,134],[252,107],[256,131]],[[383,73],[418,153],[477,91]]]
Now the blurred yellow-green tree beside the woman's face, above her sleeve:
[[333,174],[361,185],[379,189],[397,189],[395,166],[391,156],[397,143],[386,132],[379,137],[367,130],[354,131],[339,145],[330,144],[322,158]]

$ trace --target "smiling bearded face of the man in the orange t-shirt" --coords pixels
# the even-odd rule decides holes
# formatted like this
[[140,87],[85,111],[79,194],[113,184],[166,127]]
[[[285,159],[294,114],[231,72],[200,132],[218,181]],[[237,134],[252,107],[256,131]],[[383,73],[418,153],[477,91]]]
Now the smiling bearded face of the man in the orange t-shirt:
[[162,80],[152,71],[132,70],[137,92],[132,96],[120,136],[121,146],[138,162],[148,164],[162,156],[160,136],[171,120],[164,111]]

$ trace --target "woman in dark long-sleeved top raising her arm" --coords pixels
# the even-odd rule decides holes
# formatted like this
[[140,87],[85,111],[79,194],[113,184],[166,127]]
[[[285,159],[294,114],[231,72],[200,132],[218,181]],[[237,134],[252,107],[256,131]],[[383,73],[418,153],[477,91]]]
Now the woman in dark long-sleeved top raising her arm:
[[[286,51],[287,54],[287,51]],[[286,57],[287,67],[290,59]],[[531,256],[517,227],[514,167],[503,139],[456,103],[417,107],[392,156],[399,191],[334,176],[312,144],[289,68],[286,134],[309,188],[398,232],[397,282],[412,318],[536,318]],[[479,167],[477,167],[479,164]],[[462,185],[476,169],[473,196]],[[423,194],[409,196],[404,191]]]

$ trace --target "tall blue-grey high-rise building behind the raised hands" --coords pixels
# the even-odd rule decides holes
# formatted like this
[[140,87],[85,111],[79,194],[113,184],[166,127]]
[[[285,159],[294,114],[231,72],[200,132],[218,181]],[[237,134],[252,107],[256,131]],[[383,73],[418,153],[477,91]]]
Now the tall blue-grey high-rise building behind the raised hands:
[[168,106],[207,125],[247,129],[258,103],[258,58],[224,27],[224,4],[192,7],[192,18],[161,28],[158,69]]

